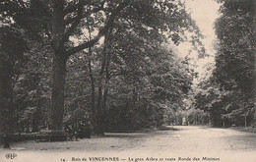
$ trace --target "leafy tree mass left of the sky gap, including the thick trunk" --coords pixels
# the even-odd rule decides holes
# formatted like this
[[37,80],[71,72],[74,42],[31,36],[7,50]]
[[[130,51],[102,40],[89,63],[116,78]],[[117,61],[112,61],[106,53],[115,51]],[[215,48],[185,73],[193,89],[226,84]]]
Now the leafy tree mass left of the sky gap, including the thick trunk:
[[29,47],[19,50],[26,62],[12,85],[17,130],[61,130],[80,119],[96,134],[159,127],[194,77],[167,42],[189,31],[204,52],[181,1],[3,0],[0,9]]

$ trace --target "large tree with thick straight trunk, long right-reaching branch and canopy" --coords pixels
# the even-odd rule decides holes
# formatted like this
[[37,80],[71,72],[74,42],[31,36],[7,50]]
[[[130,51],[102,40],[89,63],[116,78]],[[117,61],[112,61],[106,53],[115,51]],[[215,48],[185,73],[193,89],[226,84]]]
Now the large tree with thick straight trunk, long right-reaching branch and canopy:
[[[174,43],[184,39],[184,30],[199,34],[181,1],[3,0],[0,8],[5,18],[11,17],[19,26],[49,38],[53,49],[51,120],[55,130],[62,129],[68,59],[93,47],[115,22],[122,20],[134,28],[135,34],[169,33]],[[93,38],[85,33],[88,26],[96,31]]]

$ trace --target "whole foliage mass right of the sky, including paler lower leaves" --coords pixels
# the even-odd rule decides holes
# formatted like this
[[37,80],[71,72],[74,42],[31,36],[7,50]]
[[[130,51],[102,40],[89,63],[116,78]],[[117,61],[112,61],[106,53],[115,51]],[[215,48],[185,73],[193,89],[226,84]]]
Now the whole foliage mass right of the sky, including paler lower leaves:
[[201,82],[197,107],[213,125],[253,125],[255,120],[255,1],[222,2],[213,74]]

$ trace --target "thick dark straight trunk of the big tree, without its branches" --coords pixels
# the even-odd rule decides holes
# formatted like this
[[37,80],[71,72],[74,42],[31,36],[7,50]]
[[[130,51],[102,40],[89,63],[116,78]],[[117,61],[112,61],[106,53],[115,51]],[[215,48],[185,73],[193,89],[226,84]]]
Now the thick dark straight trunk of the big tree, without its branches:
[[61,130],[64,113],[64,92],[66,77],[67,56],[64,55],[64,0],[53,0],[52,41],[54,46],[53,57],[53,85],[51,129]]

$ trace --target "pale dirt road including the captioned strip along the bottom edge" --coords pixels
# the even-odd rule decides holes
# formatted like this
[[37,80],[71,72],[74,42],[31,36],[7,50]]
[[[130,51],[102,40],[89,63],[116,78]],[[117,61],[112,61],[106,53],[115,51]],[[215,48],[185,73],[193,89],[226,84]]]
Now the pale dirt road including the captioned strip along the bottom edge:
[[[251,161],[256,162],[256,134],[206,127],[173,127],[152,133],[106,134],[67,142],[13,143],[14,161],[110,161],[89,157],[116,157],[117,161]],[[28,158],[30,157],[30,158]],[[0,161],[1,161],[0,158]],[[136,159],[137,158],[137,159]],[[148,159],[147,159],[148,158]],[[163,159],[160,159],[163,158]],[[6,161],[10,159],[4,158]],[[116,159],[115,159],[116,160]],[[66,162],[65,161],[65,162]]]

